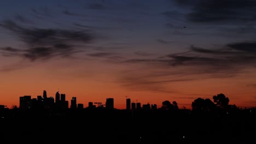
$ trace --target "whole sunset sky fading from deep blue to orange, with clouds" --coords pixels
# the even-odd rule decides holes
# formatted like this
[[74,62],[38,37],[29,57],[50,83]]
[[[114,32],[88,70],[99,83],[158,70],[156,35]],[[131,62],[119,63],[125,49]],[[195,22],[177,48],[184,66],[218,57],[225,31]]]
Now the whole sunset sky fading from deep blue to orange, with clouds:
[[54,97],[125,109],[225,94],[256,106],[256,1],[14,1],[0,5],[0,104]]

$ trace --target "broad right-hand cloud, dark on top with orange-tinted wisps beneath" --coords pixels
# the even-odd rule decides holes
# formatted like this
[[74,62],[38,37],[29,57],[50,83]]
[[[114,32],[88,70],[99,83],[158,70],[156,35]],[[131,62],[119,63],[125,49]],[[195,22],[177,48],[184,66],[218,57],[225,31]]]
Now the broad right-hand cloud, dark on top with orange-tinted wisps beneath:
[[218,49],[191,46],[188,51],[181,53],[126,59],[124,63],[141,68],[123,73],[122,81],[127,87],[156,86],[166,90],[166,85],[173,82],[235,77],[245,73],[244,69],[255,67],[255,44],[255,41],[242,41],[229,43]]

